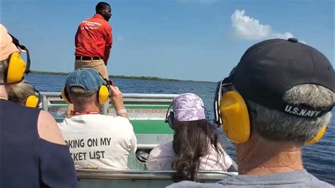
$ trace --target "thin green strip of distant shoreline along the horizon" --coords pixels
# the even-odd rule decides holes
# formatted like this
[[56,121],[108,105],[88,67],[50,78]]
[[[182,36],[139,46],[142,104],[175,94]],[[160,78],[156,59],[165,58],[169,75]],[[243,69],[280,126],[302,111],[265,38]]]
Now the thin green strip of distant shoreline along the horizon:
[[[30,71],[30,74],[46,74],[46,75],[61,75],[68,76],[71,72],[53,72],[53,71]],[[159,78],[156,76],[124,76],[124,75],[108,75],[108,78],[122,78],[122,79],[133,79],[133,80],[147,80],[147,81],[192,81],[192,80],[179,80],[172,78]],[[192,81],[192,82],[206,82],[211,83],[212,81]]]

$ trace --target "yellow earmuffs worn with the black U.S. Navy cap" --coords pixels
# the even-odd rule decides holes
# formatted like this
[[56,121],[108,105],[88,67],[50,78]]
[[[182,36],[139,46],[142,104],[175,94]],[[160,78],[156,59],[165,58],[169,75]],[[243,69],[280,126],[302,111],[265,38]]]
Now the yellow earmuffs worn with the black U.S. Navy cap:
[[[238,93],[230,77],[218,83],[214,101],[215,121],[221,124],[223,132],[233,143],[244,143],[250,136],[249,112],[245,100]],[[322,127],[316,136],[306,144],[317,143],[327,126]]]

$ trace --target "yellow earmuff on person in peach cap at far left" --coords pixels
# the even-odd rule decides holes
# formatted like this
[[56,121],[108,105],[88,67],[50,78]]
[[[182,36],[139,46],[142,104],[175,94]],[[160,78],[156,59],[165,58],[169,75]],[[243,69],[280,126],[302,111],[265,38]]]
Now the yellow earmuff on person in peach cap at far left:
[[25,50],[27,53],[27,64],[25,64],[25,61],[23,61],[18,52],[13,52],[13,54],[8,57],[7,66],[4,70],[4,83],[0,83],[0,85],[19,83],[20,81],[23,81],[24,74],[30,72],[30,54],[28,49],[25,46],[20,45],[16,37],[13,37],[13,35],[11,35],[11,37],[13,39],[13,44],[16,45],[16,47]]

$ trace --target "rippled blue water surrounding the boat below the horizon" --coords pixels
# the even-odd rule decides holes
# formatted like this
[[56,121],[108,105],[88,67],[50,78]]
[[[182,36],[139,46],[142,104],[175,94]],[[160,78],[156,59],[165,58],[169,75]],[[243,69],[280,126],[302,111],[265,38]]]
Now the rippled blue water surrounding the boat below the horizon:
[[[66,76],[29,74],[25,77],[35,88],[40,91],[61,91]],[[192,81],[144,81],[131,79],[113,79],[114,86],[118,86],[122,93],[165,93],[181,94],[195,93],[205,103],[209,117],[214,118],[213,100],[216,83],[192,82]],[[333,116],[335,114],[333,109]],[[303,148],[302,158],[305,168],[320,180],[335,184],[335,120],[331,119],[331,125],[321,142]],[[235,150],[230,141],[225,140],[228,153],[235,158]]]

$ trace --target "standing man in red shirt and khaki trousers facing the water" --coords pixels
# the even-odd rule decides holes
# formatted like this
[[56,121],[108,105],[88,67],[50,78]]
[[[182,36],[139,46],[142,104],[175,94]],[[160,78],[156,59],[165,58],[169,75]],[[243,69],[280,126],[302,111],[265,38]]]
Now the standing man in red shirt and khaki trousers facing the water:
[[106,65],[112,48],[112,26],[108,20],[111,16],[110,5],[99,2],[95,6],[95,15],[78,26],[74,69],[93,68],[108,79]]

